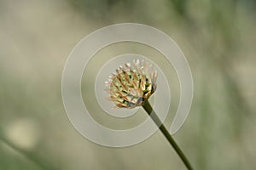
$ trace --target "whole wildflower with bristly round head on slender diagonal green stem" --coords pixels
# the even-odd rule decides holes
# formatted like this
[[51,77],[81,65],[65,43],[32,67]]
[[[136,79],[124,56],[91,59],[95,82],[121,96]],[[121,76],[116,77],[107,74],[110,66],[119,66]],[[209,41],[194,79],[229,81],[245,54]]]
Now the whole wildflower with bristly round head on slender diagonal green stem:
[[188,170],[193,170],[189,160],[148,102],[148,98],[154,94],[156,89],[156,78],[157,71],[154,70],[154,66],[148,65],[145,60],[133,60],[132,66],[130,63],[125,63],[125,68],[119,66],[116,69],[116,73],[109,76],[108,81],[105,82],[109,88],[109,99],[117,108],[131,109],[137,106],[143,106],[148,116],[160,127],[160,131],[165,135],[173,149],[176,150],[177,155],[181,158],[184,165]]

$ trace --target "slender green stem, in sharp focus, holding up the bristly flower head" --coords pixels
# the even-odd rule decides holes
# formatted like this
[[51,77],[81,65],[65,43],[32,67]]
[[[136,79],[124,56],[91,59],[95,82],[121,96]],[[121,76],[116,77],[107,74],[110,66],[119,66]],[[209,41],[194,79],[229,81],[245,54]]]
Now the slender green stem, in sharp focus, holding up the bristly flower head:
[[175,140],[172,138],[171,134],[168,132],[164,124],[160,121],[160,118],[156,115],[153,108],[149,104],[148,100],[145,101],[143,108],[145,111],[147,111],[148,115],[153,119],[154,123],[160,127],[160,131],[165,135],[166,139],[170,144],[172,144],[173,149],[177,152],[177,155],[181,158],[185,166],[189,170],[193,170],[193,167],[191,166],[189,160],[187,157],[183,154],[183,151],[179,148]]

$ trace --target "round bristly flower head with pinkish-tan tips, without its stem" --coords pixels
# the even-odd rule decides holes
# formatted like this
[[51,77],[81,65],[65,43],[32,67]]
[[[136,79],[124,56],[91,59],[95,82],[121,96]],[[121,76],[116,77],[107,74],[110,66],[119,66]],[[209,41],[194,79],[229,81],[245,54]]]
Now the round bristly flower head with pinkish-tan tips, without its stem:
[[142,106],[156,89],[157,71],[154,65],[145,60],[133,60],[132,65],[119,66],[116,73],[109,76],[108,86],[110,100],[117,108],[132,109]]

